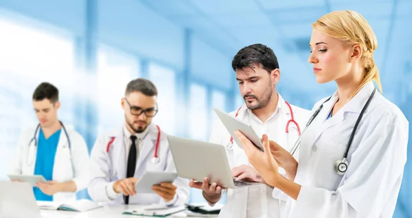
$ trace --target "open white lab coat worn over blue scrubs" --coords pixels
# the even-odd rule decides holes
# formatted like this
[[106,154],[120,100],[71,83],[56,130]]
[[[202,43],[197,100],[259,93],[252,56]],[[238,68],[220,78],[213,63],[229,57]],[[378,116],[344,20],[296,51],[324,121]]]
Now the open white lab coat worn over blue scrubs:
[[[62,128],[56,149],[56,156],[54,157],[53,180],[57,182],[73,180],[73,182],[76,183],[77,191],[80,191],[89,185],[89,152],[83,137],[73,130],[73,128],[66,125],[65,128],[70,138],[71,149],[69,149],[69,142]],[[34,174],[37,147],[34,146],[34,141],[31,143],[30,141],[35,131],[36,127],[30,128],[21,134],[14,158],[10,165],[10,174]],[[39,132],[40,130],[37,131],[36,135],[37,141]],[[76,193],[60,192],[53,195],[54,202],[71,200],[76,200]]]

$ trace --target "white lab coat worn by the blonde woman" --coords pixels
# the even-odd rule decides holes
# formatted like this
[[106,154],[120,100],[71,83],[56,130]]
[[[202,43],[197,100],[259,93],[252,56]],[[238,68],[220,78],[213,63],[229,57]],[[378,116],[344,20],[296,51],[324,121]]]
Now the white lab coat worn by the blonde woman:
[[[343,158],[356,119],[374,84],[369,82],[326,120],[335,93],[302,137],[295,182],[301,191],[288,199],[286,217],[392,217],[407,161],[408,121],[376,92],[358,125],[345,175],[334,172]],[[325,101],[315,104],[314,110]]]

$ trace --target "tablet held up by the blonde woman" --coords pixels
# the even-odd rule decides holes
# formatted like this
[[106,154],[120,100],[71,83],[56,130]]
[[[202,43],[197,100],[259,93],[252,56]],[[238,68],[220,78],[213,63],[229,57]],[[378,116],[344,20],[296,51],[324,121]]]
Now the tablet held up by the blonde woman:
[[255,147],[257,147],[263,152],[262,141],[260,141],[260,137],[258,136],[258,134],[256,134],[255,130],[253,130],[251,125],[244,123],[236,117],[232,117],[230,114],[227,114],[222,110],[218,110],[216,108],[213,108],[213,110],[214,112],[216,112],[220,121],[222,121],[223,125],[225,125],[225,128],[240,148],[243,149],[242,143],[240,143],[238,136],[236,136],[235,134],[236,130],[240,130],[240,132],[242,132],[245,136],[247,136],[247,138],[249,138],[249,140],[253,143],[253,145],[255,145]]

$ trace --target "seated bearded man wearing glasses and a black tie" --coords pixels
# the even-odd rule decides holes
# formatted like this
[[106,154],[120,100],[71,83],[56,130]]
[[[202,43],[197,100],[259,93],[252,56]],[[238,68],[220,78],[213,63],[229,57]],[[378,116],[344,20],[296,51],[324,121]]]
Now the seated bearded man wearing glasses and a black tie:
[[125,123],[99,136],[91,152],[89,195],[95,202],[114,204],[183,205],[188,180],[152,186],[153,193],[136,193],[145,171],[175,172],[166,134],[152,123],[157,114],[157,88],[145,79],[132,80],[122,98]]

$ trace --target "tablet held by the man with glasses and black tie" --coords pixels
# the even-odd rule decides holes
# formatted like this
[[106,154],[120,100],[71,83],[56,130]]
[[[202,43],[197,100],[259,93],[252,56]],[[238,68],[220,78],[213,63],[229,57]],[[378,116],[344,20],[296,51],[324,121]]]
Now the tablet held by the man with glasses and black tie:
[[174,182],[177,178],[177,173],[163,171],[146,171],[135,184],[137,193],[154,193],[152,186],[161,184],[162,182]]

